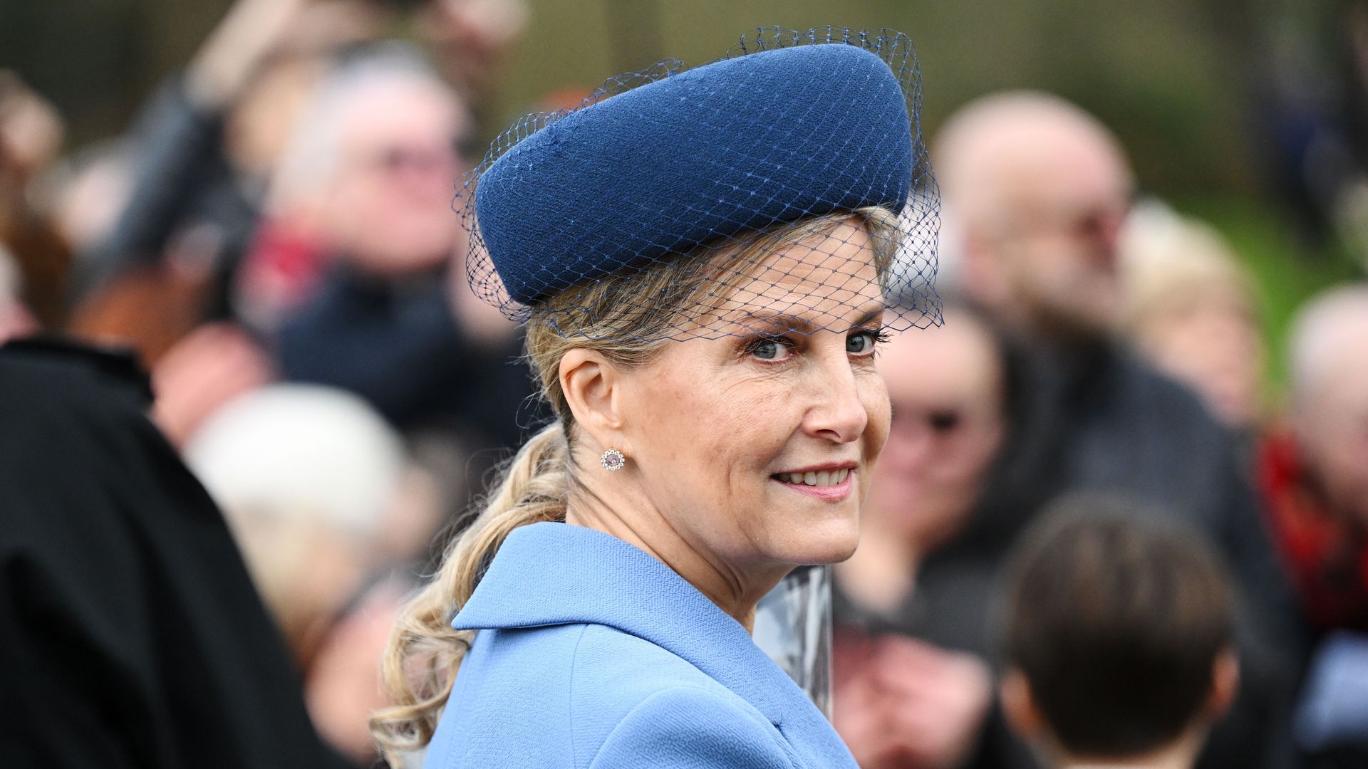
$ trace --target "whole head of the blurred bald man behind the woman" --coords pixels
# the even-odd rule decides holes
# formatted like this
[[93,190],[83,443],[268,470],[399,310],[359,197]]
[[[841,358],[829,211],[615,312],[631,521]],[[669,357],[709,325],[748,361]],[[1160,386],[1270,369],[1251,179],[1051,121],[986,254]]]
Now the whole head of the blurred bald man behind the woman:
[[1116,241],[1134,181],[1116,140],[1044,94],[952,118],[937,175],[963,238],[962,289],[1008,327],[1090,338],[1116,322]]

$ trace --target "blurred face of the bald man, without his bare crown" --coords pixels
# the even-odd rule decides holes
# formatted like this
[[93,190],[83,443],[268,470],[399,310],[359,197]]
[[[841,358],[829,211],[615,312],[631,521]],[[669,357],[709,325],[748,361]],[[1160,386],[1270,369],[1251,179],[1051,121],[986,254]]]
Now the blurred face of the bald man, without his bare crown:
[[[1064,129],[1060,129],[1064,130]],[[1064,335],[1094,335],[1116,320],[1116,239],[1131,179],[1092,135],[1059,135],[1001,172],[988,234],[1007,301],[1023,319]]]

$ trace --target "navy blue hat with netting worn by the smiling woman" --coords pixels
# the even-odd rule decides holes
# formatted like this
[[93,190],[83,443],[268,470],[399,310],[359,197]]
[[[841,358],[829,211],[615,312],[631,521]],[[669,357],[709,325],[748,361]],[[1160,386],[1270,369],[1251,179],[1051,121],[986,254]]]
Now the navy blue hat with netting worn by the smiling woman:
[[[915,59],[903,36],[825,38],[743,41],[739,56],[665,67],[639,77],[644,85],[514,126],[466,179],[472,285],[525,316],[586,281],[880,207],[903,215],[904,234],[930,219],[930,244],[902,249],[925,252],[903,267],[930,291],[938,203],[910,115]],[[910,201],[918,211],[904,211]]]

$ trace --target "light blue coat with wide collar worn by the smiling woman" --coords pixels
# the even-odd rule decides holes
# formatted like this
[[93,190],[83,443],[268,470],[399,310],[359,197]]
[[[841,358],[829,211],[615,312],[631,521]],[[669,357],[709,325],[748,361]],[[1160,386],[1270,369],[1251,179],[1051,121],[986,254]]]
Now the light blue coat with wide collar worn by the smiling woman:
[[614,536],[514,530],[451,625],[480,632],[427,769],[855,768],[740,623]]

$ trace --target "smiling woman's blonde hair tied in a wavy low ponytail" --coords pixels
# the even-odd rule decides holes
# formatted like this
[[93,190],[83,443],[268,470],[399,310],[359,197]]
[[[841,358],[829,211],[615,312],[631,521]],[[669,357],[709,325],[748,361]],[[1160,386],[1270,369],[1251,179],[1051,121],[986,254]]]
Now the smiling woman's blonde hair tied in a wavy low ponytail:
[[[421,748],[432,739],[438,716],[451,694],[461,658],[473,631],[450,627],[451,617],[469,601],[483,569],[517,527],[565,520],[575,488],[575,420],[560,383],[561,359],[572,349],[591,349],[616,365],[646,365],[659,353],[680,313],[699,307],[706,293],[718,294],[718,275],[739,275],[739,265],[778,245],[830,234],[850,219],[869,231],[874,265],[884,279],[899,245],[897,218],[884,208],[859,208],[774,226],[733,238],[722,246],[703,246],[685,257],[662,260],[632,274],[613,274],[562,291],[549,300],[547,312],[535,312],[527,324],[527,360],[542,397],[557,421],[542,428],[506,464],[480,513],[446,550],[435,579],[405,606],[384,651],[382,676],[395,705],[378,710],[371,732],[391,765],[399,754]],[[710,270],[699,270],[699,264]],[[621,301],[628,296],[663,297],[658,302]],[[580,326],[566,327],[569,313]],[[624,330],[631,330],[625,334]]]

